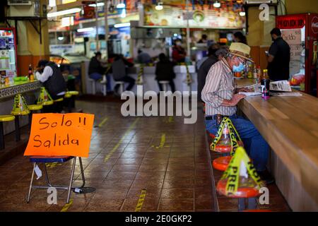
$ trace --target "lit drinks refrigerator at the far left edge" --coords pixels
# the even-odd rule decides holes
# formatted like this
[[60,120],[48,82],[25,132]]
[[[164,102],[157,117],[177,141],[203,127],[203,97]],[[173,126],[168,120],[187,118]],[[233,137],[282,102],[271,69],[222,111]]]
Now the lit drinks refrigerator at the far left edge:
[[14,28],[0,28],[0,71],[12,79],[17,75],[16,32]]

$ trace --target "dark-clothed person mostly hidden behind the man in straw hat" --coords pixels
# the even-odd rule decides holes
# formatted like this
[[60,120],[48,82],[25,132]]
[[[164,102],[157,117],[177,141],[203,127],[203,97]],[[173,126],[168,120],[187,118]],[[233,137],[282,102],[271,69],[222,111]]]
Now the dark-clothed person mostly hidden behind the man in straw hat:
[[198,71],[198,101],[201,100],[201,91],[204,88],[204,84],[206,83],[206,75],[208,74],[208,70],[210,70],[213,64],[216,64],[218,58],[216,57],[216,49],[213,46],[208,47],[208,58],[201,63]]

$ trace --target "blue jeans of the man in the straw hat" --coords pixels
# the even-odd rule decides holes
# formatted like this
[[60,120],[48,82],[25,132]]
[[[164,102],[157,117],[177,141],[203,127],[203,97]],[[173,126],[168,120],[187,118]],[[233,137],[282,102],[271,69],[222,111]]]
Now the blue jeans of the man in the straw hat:
[[[269,145],[251,121],[236,115],[232,115],[229,118],[240,138],[242,138],[247,155],[253,160],[254,167],[257,171],[264,171],[269,158]],[[216,134],[218,127],[215,119],[206,120],[206,130],[209,133]]]

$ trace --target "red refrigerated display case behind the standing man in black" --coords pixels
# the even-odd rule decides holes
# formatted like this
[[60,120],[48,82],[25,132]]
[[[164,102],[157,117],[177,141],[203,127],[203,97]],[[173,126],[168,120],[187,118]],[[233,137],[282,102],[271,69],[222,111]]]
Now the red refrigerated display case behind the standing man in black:
[[317,95],[318,14],[276,16],[276,27],[290,45],[290,85]]

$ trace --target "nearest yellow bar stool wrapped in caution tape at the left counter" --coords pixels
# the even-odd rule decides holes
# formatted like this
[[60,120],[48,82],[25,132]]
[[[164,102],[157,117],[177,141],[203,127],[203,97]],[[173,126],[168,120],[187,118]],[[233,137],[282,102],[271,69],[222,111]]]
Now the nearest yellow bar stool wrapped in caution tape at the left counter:
[[23,95],[17,94],[14,97],[13,109],[11,115],[15,116],[14,124],[16,126],[16,141],[20,141],[20,121],[19,117],[30,114],[30,109],[25,102]]

